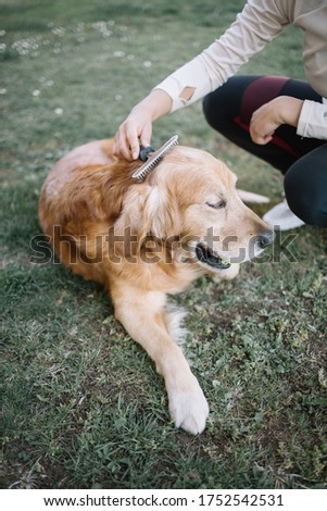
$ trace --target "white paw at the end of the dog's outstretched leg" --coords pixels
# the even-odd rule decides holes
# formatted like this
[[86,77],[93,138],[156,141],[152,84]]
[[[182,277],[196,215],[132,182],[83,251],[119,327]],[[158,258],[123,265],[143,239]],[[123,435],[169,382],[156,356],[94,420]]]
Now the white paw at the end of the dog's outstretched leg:
[[168,392],[169,412],[176,427],[192,435],[202,433],[209,415],[209,406],[197,379],[191,388]]

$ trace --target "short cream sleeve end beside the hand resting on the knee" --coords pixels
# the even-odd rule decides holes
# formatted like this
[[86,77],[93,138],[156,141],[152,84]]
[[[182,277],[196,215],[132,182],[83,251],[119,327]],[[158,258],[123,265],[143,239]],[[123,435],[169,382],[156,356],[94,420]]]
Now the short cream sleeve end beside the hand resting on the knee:
[[304,101],[297,133],[301,137],[327,140],[327,100]]

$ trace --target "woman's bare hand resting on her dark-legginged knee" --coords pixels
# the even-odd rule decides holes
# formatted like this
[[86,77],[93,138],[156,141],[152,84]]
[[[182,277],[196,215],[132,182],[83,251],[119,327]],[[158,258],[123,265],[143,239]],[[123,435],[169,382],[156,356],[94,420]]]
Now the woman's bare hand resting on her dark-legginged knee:
[[279,96],[263,104],[252,114],[250,135],[255,144],[265,145],[281,124],[298,126],[303,101],[291,96]]

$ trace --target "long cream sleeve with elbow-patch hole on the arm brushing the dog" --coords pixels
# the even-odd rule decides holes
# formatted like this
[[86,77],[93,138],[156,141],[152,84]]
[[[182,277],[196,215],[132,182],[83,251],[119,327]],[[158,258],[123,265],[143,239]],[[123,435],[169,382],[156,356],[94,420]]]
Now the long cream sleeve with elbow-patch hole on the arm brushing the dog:
[[275,0],[249,0],[219,39],[155,88],[172,98],[172,112],[191,104],[223,85],[288,23],[287,14],[276,7]]

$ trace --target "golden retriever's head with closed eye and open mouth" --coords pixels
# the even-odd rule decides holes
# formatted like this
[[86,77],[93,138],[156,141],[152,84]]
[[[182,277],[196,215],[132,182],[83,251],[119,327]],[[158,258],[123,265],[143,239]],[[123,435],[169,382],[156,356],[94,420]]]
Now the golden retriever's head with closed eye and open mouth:
[[121,235],[126,228],[135,236],[129,254],[151,238],[174,247],[175,259],[210,271],[259,256],[274,237],[241,201],[236,176],[223,162],[181,146],[144,183],[129,187],[115,224]]

